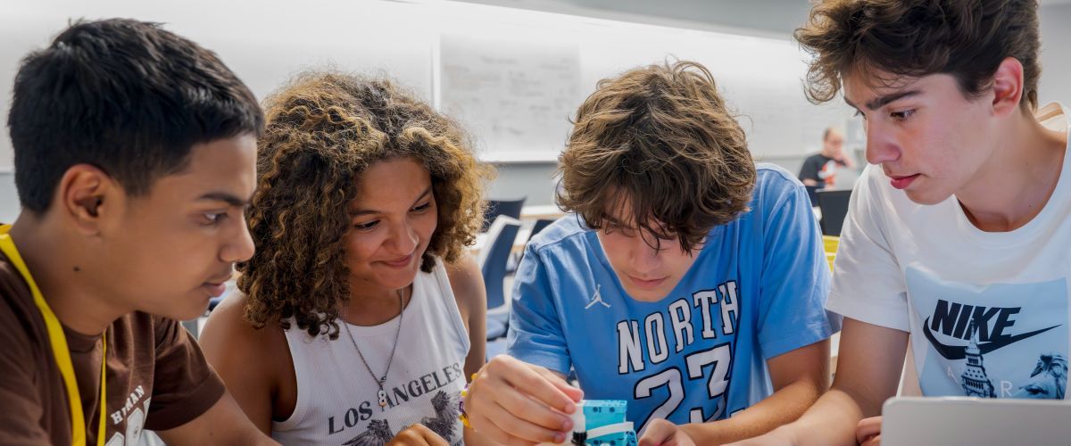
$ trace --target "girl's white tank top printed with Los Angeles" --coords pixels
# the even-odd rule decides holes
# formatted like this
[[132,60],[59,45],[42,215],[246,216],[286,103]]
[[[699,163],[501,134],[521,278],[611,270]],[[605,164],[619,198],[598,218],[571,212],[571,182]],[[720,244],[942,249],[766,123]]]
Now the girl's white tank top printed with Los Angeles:
[[[286,342],[293,357],[298,402],[284,421],[272,421],[272,437],[284,445],[384,445],[420,422],[451,445],[463,445],[457,397],[465,386],[469,339],[446,268],[420,272],[402,318],[397,351],[379,406],[376,381],[361,363],[345,324],[338,339],[315,338],[291,325]],[[387,367],[398,318],[376,326],[348,325],[377,376]]]

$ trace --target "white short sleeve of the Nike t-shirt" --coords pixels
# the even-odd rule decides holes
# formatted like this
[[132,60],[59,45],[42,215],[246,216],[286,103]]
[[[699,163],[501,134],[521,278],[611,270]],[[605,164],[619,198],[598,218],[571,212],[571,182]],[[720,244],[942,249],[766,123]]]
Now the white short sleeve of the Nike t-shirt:
[[868,167],[848,203],[827,307],[846,318],[907,332],[907,286],[889,243],[888,203]]

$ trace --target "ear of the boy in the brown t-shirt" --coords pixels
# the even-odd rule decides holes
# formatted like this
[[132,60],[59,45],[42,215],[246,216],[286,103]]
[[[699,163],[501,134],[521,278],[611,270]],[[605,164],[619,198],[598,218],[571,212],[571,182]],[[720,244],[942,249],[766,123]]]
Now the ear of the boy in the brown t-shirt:
[[103,217],[119,207],[121,199],[117,193],[121,189],[103,170],[88,164],[75,165],[60,178],[57,211],[72,221],[78,232],[95,235],[100,233]]

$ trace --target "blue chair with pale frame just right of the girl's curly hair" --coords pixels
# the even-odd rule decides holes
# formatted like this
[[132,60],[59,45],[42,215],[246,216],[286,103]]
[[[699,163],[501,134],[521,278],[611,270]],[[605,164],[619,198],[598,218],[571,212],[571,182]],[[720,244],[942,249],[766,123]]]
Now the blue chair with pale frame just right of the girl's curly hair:
[[483,284],[487,290],[487,339],[506,336],[510,320],[509,308],[506,305],[503,282],[506,281],[506,263],[513,251],[513,242],[521,230],[521,220],[504,215],[495,218],[487,229],[487,241],[478,262],[483,274]]

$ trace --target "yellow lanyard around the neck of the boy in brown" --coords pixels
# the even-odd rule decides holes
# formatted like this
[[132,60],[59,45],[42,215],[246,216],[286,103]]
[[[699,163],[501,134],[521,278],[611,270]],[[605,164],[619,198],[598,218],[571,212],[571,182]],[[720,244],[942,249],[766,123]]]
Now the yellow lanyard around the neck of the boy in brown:
[[[56,318],[56,313],[52,312],[51,307],[45,302],[44,295],[41,294],[41,289],[37,288],[37,283],[33,281],[33,276],[30,275],[30,270],[26,267],[26,262],[22,261],[22,257],[18,255],[18,249],[15,247],[15,242],[7,234],[11,229],[10,225],[3,225],[0,227],[0,250],[3,250],[4,256],[7,256],[7,260],[15,265],[18,273],[22,275],[22,279],[26,283],[30,286],[30,292],[33,293],[33,303],[36,304],[37,309],[41,310],[41,316],[45,319],[45,326],[48,328],[48,341],[52,345],[52,355],[56,356],[56,364],[60,368],[60,374],[63,375],[63,384],[66,385],[67,389],[67,402],[71,403],[71,439],[74,446],[82,446],[86,444],[86,417],[81,412],[81,398],[78,396],[78,381],[74,375],[74,365],[71,363],[71,351],[66,345],[66,336],[63,335],[63,326],[60,325],[60,320]],[[107,370],[108,363],[108,338],[107,329],[101,335],[101,424],[96,430],[96,444],[99,446],[104,445],[104,429],[105,429],[105,412],[107,412],[107,393],[104,390],[105,385],[105,371]]]

